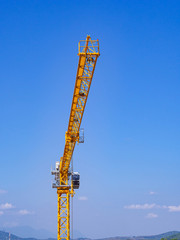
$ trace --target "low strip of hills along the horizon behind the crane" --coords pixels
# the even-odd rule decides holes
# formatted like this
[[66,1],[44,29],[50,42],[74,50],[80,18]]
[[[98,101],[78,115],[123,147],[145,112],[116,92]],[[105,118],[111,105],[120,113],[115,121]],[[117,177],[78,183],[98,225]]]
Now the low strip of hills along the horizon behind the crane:
[[[109,237],[109,238],[102,238],[97,240],[161,240],[162,238],[171,240],[171,239],[177,239],[180,240],[180,232],[173,231],[173,232],[167,232],[162,233],[158,235],[152,235],[152,236],[133,236],[133,237]],[[9,233],[0,231],[0,240],[8,240],[9,239]],[[14,234],[11,234],[11,240],[40,240],[37,238],[22,238],[18,237]],[[47,238],[44,240],[56,240],[56,238]],[[76,240],[91,240],[89,238],[77,238]]]

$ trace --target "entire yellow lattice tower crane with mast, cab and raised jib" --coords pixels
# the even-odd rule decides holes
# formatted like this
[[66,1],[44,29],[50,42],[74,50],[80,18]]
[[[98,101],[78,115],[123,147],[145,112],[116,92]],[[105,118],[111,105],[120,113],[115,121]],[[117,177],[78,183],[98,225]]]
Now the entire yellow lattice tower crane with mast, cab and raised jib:
[[55,175],[52,187],[57,188],[58,195],[58,240],[70,239],[70,196],[74,196],[74,189],[79,188],[80,181],[80,174],[71,171],[70,163],[76,142],[82,142],[80,139],[81,121],[97,58],[100,55],[99,41],[91,40],[90,36],[87,36],[86,40],[81,40],[78,48],[79,63],[68,130],[65,134],[64,154],[60,162],[56,162],[55,170],[52,171]]

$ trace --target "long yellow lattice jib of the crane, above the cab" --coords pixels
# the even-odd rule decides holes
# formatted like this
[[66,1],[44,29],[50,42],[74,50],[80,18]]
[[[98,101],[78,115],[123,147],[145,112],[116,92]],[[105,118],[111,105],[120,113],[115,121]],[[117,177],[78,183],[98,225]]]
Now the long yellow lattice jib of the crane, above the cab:
[[[67,179],[68,169],[76,142],[79,142],[79,130],[91,86],[97,58],[99,57],[99,41],[87,36],[78,45],[79,63],[76,83],[71,105],[68,130],[65,134],[63,157],[60,159],[60,178]],[[60,181],[61,181],[60,180]],[[62,182],[65,184],[65,182]]]

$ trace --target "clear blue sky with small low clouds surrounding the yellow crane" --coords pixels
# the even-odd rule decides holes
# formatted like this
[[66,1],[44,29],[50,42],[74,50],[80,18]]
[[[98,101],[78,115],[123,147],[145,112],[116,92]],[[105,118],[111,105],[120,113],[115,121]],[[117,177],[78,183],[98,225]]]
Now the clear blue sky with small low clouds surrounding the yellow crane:
[[56,233],[78,41],[99,39],[76,146],[74,229],[91,238],[180,230],[180,2],[0,1],[0,227]]

